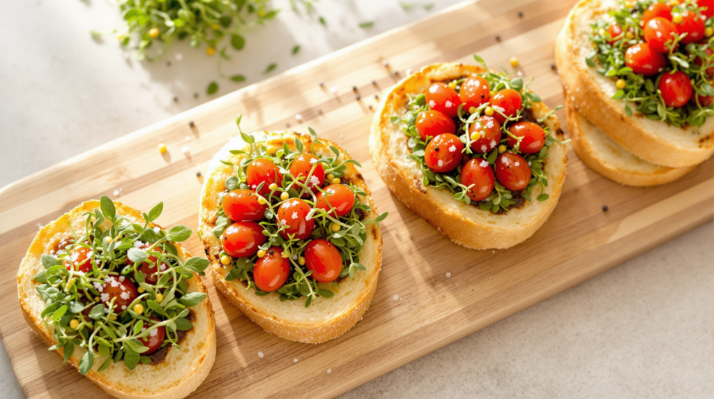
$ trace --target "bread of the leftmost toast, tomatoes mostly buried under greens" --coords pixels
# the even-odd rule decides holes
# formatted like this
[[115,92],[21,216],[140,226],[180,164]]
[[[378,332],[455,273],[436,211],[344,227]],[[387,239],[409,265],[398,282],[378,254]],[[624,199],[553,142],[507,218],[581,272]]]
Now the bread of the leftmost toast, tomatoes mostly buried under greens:
[[[140,211],[118,202],[114,202],[114,205],[118,215],[124,216],[134,223],[145,223]],[[99,207],[99,201],[86,201],[41,228],[20,264],[17,273],[17,288],[22,313],[32,330],[48,346],[55,345],[56,340],[53,335],[54,328],[51,325],[43,325],[40,318],[40,313],[45,308],[45,302],[37,293],[35,289],[37,283],[34,281],[34,276],[44,270],[40,256],[43,253],[49,253],[54,243],[71,236],[70,224],[76,231],[83,231],[86,219],[82,214],[94,211]],[[149,226],[155,225],[150,223]],[[191,254],[186,249],[178,243],[175,245],[182,261],[191,258]],[[201,277],[194,276],[186,283],[188,283],[188,292],[206,293],[206,286],[203,286]],[[120,399],[186,397],[203,383],[208,372],[211,371],[213,360],[216,359],[216,329],[211,301],[206,297],[203,302],[192,306],[191,310],[194,317],[193,328],[183,336],[180,343],[181,349],[169,348],[166,358],[160,363],[139,363],[134,370],[129,370],[123,361],[111,362],[108,368],[98,373],[96,370],[106,360],[106,356],[98,355],[94,359],[94,367],[89,373],[86,373],[86,378],[89,378],[91,382],[109,395]],[[55,352],[60,358],[64,358],[64,350],[60,348]],[[84,353],[86,353],[86,349],[75,345],[74,353],[67,361],[74,368],[79,368],[79,360]],[[57,364],[59,365],[59,361]]]

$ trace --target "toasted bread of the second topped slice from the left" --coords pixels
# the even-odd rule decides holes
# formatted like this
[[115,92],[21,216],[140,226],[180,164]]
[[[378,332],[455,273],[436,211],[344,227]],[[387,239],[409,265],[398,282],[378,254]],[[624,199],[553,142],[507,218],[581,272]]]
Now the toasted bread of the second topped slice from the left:
[[[295,138],[300,138],[305,148],[310,148],[313,142],[311,136],[291,131],[263,133],[266,134],[268,143],[278,148],[286,143],[291,151],[295,151],[296,148]],[[343,149],[336,143],[324,138],[320,138],[319,141],[321,143],[316,143],[314,146],[317,155],[334,156],[329,146],[334,146],[340,153],[343,153]],[[221,151],[213,156],[213,160],[208,166],[206,181],[203,183],[198,230],[201,232],[208,261],[211,261],[213,283],[233,306],[236,306],[268,333],[302,343],[322,343],[338,338],[352,328],[358,320],[361,320],[362,315],[372,302],[382,265],[382,233],[375,224],[368,224],[367,239],[359,253],[360,263],[367,270],[358,271],[354,279],[345,278],[338,287],[331,284],[320,284],[321,288],[329,288],[335,295],[332,298],[317,297],[307,308],[304,300],[281,302],[280,296],[274,293],[268,296],[256,296],[255,288],[251,287],[246,290],[246,284],[240,279],[226,281],[226,275],[230,268],[221,264],[219,254],[223,248],[221,241],[213,236],[213,228],[216,227],[216,217],[218,216],[218,196],[221,192],[226,191],[226,178],[232,176],[234,172],[231,167],[224,165],[221,161],[231,161],[238,165],[244,156],[233,155],[229,151],[246,149],[247,144],[241,136],[231,138],[231,141],[228,141]],[[351,163],[347,164],[343,181],[345,180],[351,181],[356,187],[367,193],[366,197],[358,196],[358,200],[372,208],[366,219],[376,218],[378,213],[369,188],[362,175]]]

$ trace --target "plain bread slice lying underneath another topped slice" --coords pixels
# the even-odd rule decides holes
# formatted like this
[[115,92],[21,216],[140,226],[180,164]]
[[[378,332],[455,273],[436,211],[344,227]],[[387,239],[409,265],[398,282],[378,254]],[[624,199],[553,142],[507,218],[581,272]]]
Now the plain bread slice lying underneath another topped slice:
[[612,181],[625,186],[658,186],[675,181],[697,167],[670,168],[638,158],[590,123],[567,95],[565,110],[575,153],[586,165]]

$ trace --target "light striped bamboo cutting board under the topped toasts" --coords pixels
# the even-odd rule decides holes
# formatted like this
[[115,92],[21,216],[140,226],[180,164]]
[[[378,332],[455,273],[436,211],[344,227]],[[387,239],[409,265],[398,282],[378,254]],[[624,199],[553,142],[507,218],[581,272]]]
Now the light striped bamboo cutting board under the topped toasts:
[[[408,68],[472,62],[475,53],[498,66],[518,56],[524,77],[537,76],[531,88],[551,108],[562,104],[562,86],[551,70],[553,40],[574,3],[460,4],[6,186],[0,190],[0,268],[5,276],[14,276],[39,225],[103,194],[145,211],[164,201],[159,223],[183,223],[195,231],[202,183],[196,171],[204,171],[213,153],[238,133],[233,121],[242,112],[244,131],[291,124],[306,132],[311,126],[362,163],[378,210],[389,212],[382,224],[383,266],[363,320],[343,337],[321,345],[263,332],[206,279],[216,312],[218,354],[211,374],[191,397],[328,398],[441,348],[713,218],[712,160],[666,186],[629,188],[594,173],[569,149],[563,195],[548,223],[508,251],[471,251],[411,213],[377,175],[367,148],[374,95],[386,93]],[[319,81],[325,82],[323,88]],[[302,123],[296,123],[296,113],[303,116]],[[558,115],[564,126],[563,113]],[[164,156],[156,151],[162,141],[169,147]],[[190,155],[181,153],[183,145]],[[609,211],[603,212],[603,205]],[[188,241],[188,250],[202,253],[196,236]],[[31,333],[16,296],[14,278],[0,281],[0,338],[26,397],[106,396],[74,368],[61,365],[59,356]]]

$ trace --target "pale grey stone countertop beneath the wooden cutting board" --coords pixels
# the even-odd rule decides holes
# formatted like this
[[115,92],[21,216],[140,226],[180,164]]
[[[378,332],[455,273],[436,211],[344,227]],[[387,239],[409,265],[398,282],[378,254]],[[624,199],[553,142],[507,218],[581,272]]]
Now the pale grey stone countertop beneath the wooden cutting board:
[[[278,19],[246,34],[223,72],[250,84],[269,76],[262,72],[272,62],[276,74],[456,2],[405,11],[397,1],[321,0],[306,15],[273,0]],[[326,27],[316,23],[321,15]],[[362,21],[375,24],[361,29]],[[149,64],[114,36],[89,35],[120,24],[110,1],[4,4],[0,186],[241,87],[218,79],[216,58],[187,44]],[[221,89],[208,96],[213,80]],[[342,397],[712,398],[713,298],[708,223]],[[22,398],[0,352],[0,397]]]

